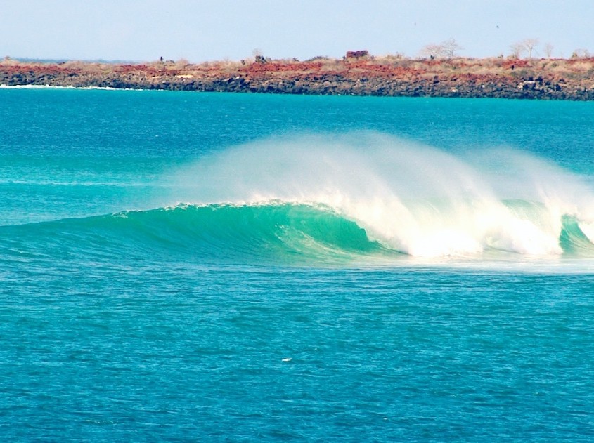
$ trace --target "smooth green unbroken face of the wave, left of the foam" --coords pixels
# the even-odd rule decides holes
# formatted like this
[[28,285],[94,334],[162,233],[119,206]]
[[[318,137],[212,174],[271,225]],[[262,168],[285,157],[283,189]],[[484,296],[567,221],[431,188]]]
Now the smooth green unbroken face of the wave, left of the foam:
[[[322,206],[179,205],[149,211],[5,226],[13,254],[162,258],[204,263],[343,263],[389,251]],[[18,239],[15,240],[15,239]]]

